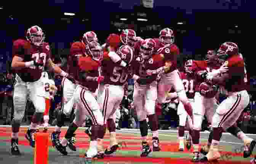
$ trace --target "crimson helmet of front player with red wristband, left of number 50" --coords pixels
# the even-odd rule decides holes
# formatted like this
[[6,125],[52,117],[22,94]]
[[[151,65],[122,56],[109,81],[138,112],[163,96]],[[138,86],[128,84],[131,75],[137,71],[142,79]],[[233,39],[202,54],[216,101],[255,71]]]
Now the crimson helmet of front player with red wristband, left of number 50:
[[91,56],[95,61],[102,61],[103,59],[103,49],[96,41],[91,41],[88,43],[87,54]]

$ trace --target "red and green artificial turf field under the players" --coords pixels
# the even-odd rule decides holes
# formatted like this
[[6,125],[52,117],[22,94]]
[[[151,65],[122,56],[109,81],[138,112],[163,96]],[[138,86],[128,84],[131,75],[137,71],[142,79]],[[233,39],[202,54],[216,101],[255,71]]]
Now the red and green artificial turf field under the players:
[[[10,155],[10,126],[0,126],[0,161],[1,164],[33,164],[34,163],[34,149],[29,146],[29,142],[25,139],[27,127],[22,127],[19,133],[19,149],[21,156]],[[42,130],[42,128],[40,129]],[[54,127],[48,130],[50,133]],[[62,128],[61,137],[64,136],[67,128]],[[89,138],[83,132],[85,128],[79,128],[76,131],[77,137],[77,152],[69,152],[68,156],[61,155],[52,147],[51,139],[49,140],[49,156],[48,164],[84,164],[83,155],[89,147]],[[202,132],[200,142],[206,145],[208,132]],[[256,135],[250,134],[250,137],[256,139]],[[149,138],[151,134],[149,132]],[[117,130],[117,139],[122,142],[120,148],[114,155],[105,156],[104,159],[97,159],[93,161],[95,164],[190,164],[192,158],[192,150],[184,152],[178,151],[178,139],[176,130],[160,130],[159,139],[161,144],[161,152],[153,152],[149,157],[141,158],[141,141],[138,129],[122,129]],[[152,143],[150,141],[150,143]],[[109,145],[109,134],[104,137],[104,147]],[[152,145],[152,144],[151,144]],[[242,153],[237,152],[243,143],[236,137],[224,133],[220,143],[221,154],[223,155],[220,164],[249,164],[251,158],[243,158]],[[253,152],[256,155],[256,151]],[[225,156],[226,155],[226,156]]]

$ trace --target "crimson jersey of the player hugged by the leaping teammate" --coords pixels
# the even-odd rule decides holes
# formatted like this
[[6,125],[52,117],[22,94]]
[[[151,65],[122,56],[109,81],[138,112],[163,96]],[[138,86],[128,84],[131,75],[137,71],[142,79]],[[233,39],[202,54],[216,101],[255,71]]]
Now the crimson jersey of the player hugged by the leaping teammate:
[[134,66],[134,74],[140,77],[147,77],[146,70],[155,70],[159,67],[162,67],[164,64],[163,56],[160,54],[155,54],[152,58],[145,60],[142,64],[136,62],[133,64]]

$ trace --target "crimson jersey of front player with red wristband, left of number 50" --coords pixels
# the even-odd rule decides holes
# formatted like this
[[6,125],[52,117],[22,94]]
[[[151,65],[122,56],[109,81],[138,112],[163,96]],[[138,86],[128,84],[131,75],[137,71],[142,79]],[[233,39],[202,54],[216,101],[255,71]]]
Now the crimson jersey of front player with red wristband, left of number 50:
[[77,72],[77,75],[74,77],[78,83],[84,87],[87,87],[91,92],[95,92],[98,88],[97,81],[86,81],[79,76],[79,72],[86,72],[87,76],[98,77],[99,71],[98,68],[100,63],[94,61],[90,56],[81,56],[78,58],[78,67],[74,67],[74,72]]

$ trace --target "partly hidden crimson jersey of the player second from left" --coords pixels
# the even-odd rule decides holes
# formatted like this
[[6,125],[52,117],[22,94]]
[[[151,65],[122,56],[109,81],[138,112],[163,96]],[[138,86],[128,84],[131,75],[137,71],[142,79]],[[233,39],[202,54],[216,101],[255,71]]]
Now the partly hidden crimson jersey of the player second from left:
[[78,65],[78,58],[85,55],[85,45],[82,42],[74,42],[70,47],[70,54],[67,61],[67,72],[72,76],[78,76],[75,67]]

